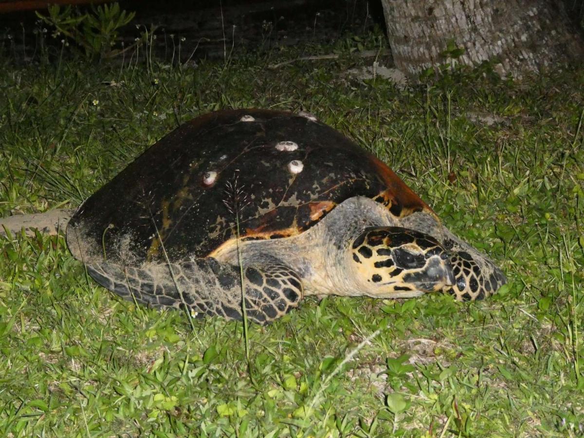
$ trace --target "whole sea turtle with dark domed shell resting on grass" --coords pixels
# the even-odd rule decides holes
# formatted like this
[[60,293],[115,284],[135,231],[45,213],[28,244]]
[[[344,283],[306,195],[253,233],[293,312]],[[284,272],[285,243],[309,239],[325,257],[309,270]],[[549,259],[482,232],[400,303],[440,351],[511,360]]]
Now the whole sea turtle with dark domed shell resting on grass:
[[260,324],[307,295],[476,300],[506,281],[383,162],[311,114],[273,110],[166,135],[79,207],[67,244],[128,300],[242,319],[243,293]]

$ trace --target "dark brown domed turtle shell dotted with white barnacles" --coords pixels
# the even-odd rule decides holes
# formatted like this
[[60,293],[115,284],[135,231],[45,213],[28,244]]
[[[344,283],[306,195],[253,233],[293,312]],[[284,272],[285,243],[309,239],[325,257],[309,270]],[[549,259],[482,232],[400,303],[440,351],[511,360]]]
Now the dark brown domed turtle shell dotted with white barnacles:
[[79,259],[105,252],[134,265],[166,252],[176,262],[213,256],[237,228],[244,240],[298,235],[354,196],[396,216],[429,210],[383,162],[314,117],[224,110],[148,148],[82,204],[67,239]]

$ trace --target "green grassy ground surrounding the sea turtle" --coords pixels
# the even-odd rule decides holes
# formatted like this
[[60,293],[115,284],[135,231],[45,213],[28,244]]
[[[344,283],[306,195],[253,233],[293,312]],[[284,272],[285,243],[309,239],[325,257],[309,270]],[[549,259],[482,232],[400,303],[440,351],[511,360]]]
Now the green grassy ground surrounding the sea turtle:
[[249,326],[248,364],[241,324],[193,330],[97,286],[63,237],[2,238],[0,435],[582,434],[584,71],[398,91],[347,77],[362,62],[348,56],[266,68],[287,50],[197,68],[5,58],[0,214],[77,207],[201,113],[302,106],[388,162],[509,285],[481,303],[308,298]]

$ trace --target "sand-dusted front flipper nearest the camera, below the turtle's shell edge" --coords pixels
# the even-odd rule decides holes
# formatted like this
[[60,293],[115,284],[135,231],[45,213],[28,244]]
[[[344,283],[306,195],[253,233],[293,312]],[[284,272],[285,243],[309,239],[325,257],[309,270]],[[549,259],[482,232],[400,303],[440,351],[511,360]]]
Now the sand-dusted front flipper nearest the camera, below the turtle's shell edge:
[[[186,307],[197,317],[242,319],[239,266],[207,258],[142,267],[98,262],[87,269],[99,284],[126,300],[157,308]],[[268,324],[298,307],[304,295],[298,274],[279,263],[244,266],[244,285],[247,317],[259,324]]]

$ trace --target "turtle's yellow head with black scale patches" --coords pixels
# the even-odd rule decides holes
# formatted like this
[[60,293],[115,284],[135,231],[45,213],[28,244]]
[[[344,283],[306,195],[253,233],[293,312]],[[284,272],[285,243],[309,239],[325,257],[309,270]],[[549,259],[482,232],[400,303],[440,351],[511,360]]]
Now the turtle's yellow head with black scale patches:
[[401,227],[366,228],[352,245],[353,267],[367,295],[414,297],[455,284],[451,253],[435,238]]

